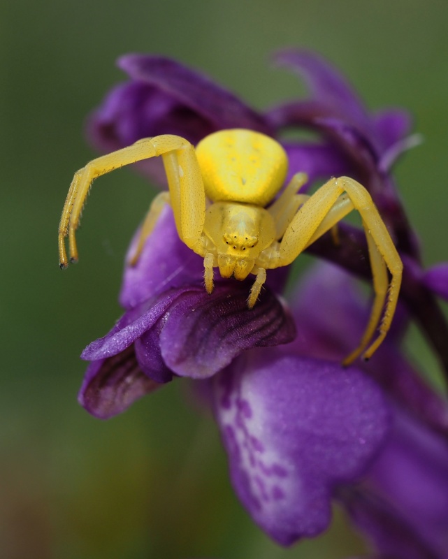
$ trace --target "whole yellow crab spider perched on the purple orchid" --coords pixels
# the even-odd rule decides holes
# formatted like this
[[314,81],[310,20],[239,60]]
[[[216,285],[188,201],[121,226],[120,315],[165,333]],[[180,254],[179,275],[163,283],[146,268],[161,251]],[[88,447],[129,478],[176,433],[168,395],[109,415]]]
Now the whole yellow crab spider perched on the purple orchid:
[[[375,299],[359,347],[344,363],[352,363],[362,353],[364,358],[372,356],[389,331],[403,270],[372,198],[349,177],[332,178],[312,196],[298,194],[307,180],[304,173],[298,173],[273,201],[287,174],[287,154],[275,140],[254,131],[215,132],[196,149],[180,136],[165,134],[90,161],[75,173],[62,211],[61,268],[68,266],[67,235],[70,260],[78,261],[75,231],[92,181],[116,168],[160,155],[169,194],[154,198],[133,262],[165,203],[170,203],[179,238],[204,259],[208,293],[213,290],[213,268],[219,268],[222,277],[256,276],[247,300],[249,308],[256,303],[266,270],[287,266],[340,219],[358,210],[368,242]],[[378,335],[369,346],[377,328]]]

